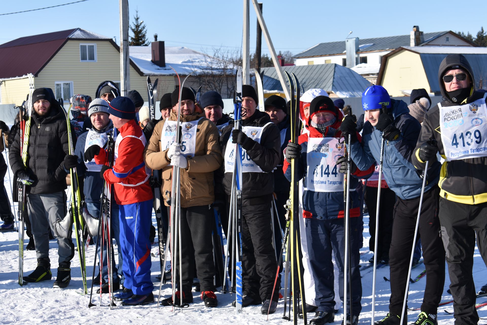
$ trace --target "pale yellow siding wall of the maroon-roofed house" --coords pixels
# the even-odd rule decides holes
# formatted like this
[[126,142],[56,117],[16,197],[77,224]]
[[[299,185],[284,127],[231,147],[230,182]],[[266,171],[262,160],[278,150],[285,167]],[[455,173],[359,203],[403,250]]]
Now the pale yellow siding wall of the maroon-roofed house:
[[[79,45],[96,44],[96,62],[80,62]],[[56,81],[73,81],[73,95],[94,98],[97,86],[105,80],[120,82],[120,53],[108,41],[69,40],[42,69],[35,80],[36,88],[49,87],[55,91]],[[131,89],[147,97],[146,76],[130,67]]]

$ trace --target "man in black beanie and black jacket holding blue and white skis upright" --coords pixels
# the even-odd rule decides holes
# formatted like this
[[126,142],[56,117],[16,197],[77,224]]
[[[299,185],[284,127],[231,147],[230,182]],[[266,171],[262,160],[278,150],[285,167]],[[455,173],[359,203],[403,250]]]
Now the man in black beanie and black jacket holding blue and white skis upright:
[[[279,292],[273,295],[277,271],[276,252],[272,248],[271,200],[274,191],[272,171],[281,159],[279,129],[269,115],[257,110],[257,94],[250,85],[242,88],[242,130],[234,130],[233,122],[220,137],[225,157],[223,184],[230,196],[232,185],[232,148],[243,149],[242,184],[242,306],[259,305],[262,312],[275,312]],[[279,287],[277,287],[278,291]]]

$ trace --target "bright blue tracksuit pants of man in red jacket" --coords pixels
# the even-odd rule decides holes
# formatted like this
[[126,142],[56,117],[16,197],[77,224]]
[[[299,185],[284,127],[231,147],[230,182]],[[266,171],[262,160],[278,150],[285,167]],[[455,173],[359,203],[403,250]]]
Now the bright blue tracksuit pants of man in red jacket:
[[152,200],[119,205],[120,244],[124,263],[124,287],[137,295],[154,289],[150,280],[149,231],[152,217]]

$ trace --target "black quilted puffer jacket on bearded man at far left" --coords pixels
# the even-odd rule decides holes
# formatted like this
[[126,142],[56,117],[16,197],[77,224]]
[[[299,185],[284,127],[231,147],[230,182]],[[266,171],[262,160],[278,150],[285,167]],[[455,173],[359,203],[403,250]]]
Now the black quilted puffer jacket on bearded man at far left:
[[[57,102],[45,117],[32,115],[29,136],[27,173],[34,175],[34,183],[26,186],[28,193],[51,194],[66,189],[64,156],[69,153],[66,115]],[[9,161],[14,175],[24,170],[20,156],[20,133],[10,149]]]

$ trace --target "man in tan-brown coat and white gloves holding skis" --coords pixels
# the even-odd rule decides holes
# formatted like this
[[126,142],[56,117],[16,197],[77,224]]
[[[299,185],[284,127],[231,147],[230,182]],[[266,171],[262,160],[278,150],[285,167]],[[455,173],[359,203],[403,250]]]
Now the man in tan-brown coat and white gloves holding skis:
[[[196,266],[201,299],[205,301],[206,306],[214,307],[217,306],[217,299],[213,284],[215,264],[211,232],[214,215],[211,204],[215,201],[213,171],[221,166],[223,157],[218,142],[218,129],[204,113],[198,112],[194,94],[186,87],[183,87],[181,95],[181,144],[174,142],[178,120],[178,97],[179,88],[171,94],[170,116],[155,126],[144,156],[147,166],[151,169],[162,169],[161,191],[166,206],[169,206],[172,166],[181,168],[183,281],[176,293],[176,303],[179,302],[181,294],[183,303],[193,302],[191,286]],[[175,274],[179,274],[179,270]],[[172,305],[172,297],[164,299],[162,304]]]

